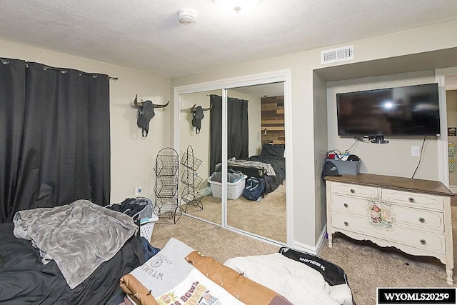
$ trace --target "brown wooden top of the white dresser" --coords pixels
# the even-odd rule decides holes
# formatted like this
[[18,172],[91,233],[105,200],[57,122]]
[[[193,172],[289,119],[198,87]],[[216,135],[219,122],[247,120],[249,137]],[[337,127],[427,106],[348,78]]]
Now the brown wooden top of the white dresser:
[[387,187],[401,191],[416,191],[419,193],[454,196],[454,194],[440,181],[411,179],[397,176],[384,176],[375,174],[358,174],[343,176],[326,176],[328,181],[337,181],[348,184],[361,184],[366,186]]

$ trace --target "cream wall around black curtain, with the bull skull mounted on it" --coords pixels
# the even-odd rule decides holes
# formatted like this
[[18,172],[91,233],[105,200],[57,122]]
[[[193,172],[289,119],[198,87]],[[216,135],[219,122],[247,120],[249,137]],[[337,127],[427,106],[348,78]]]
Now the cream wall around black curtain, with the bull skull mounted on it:
[[138,94],[139,99],[151,99],[154,103],[164,104],[169,101],[169,79],[9,41],[0,41],[0,46],[0,57],[118,77],[119,80],[111,80],[109,84],[111,203],[133,197],[136,184],[143,187],[143,196],[154,198],[152,164],[161,148],[171,146],[171,130],[166,128],[171,117],[171,106],[156,109],[156,116],[149,125],[149,136],[142,139],[141,129],[136,126],[136,109],[131,105],[135,94]]

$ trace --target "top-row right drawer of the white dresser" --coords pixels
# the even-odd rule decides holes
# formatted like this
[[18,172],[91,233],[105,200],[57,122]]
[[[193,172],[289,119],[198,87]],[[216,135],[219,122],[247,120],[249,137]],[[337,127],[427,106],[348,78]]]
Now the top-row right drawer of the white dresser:
[[397,191],[395,189],[382,189],[381,193],[382,199],[387,201],[443,211],[443,196]]

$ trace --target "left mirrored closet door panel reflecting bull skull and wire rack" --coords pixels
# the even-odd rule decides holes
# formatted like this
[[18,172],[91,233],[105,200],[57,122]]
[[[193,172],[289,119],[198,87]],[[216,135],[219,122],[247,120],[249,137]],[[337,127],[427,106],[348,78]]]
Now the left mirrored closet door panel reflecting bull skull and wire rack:
[[[221,121],[214,121],[210,104],[212,94],[221,94],[221,90],[181,94],[179,96],[179,155],[181,156],[181,209],[191,216],[221,224],[221,191],[219,197],[213,196],[209,177],[210,169],[211,124],[221,126]],[[200,107],[199,107],[200,106]],[[221,111],[219,109],[219,111]],[[212,119],[212,120],[211,120]],[[219,148],[219,151],[221,149]],[[219,157],[220,159],[220,157]],[[215,184],[217,187],[218,185]]]

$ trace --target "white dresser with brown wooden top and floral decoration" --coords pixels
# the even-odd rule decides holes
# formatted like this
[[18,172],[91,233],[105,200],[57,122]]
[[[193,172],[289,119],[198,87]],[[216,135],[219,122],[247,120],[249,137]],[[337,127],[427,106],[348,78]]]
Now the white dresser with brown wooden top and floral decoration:
[[327,176],[328,246],[333,233],[395,246],[446,264],[453,284],[451,196],[438,181],[358,174]]

